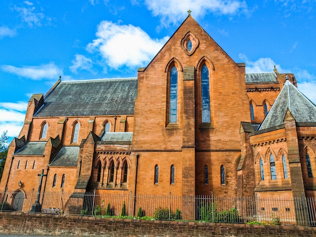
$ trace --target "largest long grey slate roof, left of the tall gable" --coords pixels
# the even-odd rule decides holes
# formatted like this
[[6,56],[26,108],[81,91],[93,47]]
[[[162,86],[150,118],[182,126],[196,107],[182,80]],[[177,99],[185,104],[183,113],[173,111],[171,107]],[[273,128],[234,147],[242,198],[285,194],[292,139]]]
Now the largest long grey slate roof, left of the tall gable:
[[34,115],[134,114],[137,78],[61,82]]

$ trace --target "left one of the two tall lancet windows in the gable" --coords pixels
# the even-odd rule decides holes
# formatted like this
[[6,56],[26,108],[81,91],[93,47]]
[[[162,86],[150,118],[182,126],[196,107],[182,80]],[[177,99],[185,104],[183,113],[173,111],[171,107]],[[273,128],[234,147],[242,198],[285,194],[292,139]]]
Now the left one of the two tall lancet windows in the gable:
[[178,71],[175,66],[170,71],[169,123],[177,123],[178,115]]

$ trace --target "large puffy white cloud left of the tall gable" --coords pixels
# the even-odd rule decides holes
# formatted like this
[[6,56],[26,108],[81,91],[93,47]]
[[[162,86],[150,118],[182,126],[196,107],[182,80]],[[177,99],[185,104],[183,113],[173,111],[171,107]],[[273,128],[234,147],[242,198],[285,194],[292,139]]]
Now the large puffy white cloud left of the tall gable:
[[96,36],[87,50],[99,52],[108,66],[115,69],[146,65],[169,38],[152,39],[139,27],[111,21],[102,21]]

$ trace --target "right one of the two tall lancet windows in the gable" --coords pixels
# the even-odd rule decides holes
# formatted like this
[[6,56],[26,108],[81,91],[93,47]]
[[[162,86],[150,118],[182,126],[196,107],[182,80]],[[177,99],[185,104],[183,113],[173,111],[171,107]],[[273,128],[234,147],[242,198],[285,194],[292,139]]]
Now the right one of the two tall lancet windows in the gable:
[[201,97],[202,97],[202,123],[210,123],[209,109],[209,77],[208,69],[204,64],[201,70]]

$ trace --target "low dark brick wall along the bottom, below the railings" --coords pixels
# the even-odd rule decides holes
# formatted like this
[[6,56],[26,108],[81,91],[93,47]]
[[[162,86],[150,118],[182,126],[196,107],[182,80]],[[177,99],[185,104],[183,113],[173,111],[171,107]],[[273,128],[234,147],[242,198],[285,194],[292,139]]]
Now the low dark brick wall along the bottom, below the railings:
[[316,227],[0,213],[0,234],[74,236],[315,236]]

